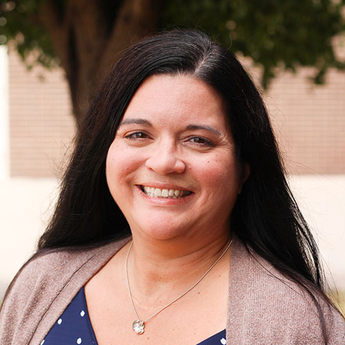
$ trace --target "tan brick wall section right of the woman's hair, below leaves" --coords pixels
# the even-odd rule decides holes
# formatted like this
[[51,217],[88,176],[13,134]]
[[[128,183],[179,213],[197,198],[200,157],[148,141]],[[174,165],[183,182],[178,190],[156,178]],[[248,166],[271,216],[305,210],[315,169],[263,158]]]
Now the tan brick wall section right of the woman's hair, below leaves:
[[284,73],[265,97],[290,173],[345,173],[345,73],[331,70],[326,84]]

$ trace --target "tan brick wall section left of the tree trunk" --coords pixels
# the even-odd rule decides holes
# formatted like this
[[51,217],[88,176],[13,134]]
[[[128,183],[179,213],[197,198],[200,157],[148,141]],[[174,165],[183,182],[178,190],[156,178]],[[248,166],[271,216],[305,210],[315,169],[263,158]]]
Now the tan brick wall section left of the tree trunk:
[[75,132],[63,72],[28,71],[11,51],[8,61],[10,175],[57,177]]

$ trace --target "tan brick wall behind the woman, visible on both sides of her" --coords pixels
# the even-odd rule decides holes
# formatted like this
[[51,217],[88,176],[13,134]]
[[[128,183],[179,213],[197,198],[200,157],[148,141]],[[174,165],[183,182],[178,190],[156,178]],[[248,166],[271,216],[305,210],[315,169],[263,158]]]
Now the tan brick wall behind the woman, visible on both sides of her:
[[[74,133],[61,70],[26,67],[10,52],[10,169],[12,176],[59,176]],[[315,86],[304,68],[282,73],[264,95],[291,173],[345,173],[345,74],[330,71]]]

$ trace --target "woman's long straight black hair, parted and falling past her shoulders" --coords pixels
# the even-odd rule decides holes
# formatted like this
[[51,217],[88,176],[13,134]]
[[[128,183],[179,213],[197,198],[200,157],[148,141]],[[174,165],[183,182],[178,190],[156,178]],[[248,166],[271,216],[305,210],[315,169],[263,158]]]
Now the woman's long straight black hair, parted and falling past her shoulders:
[[219,92],[239,164],[250,166],[232,211],[231,230],[311,295],[316,290],[324,296],[317,246],[286,182],[262,97],[230,51],[194,30],[163,32],[139,41],[112,69],[77,137],[39,252],[99,245],[130,235],[106,184],[108,148],[141,82],[150,75],[179,73],[201,79]]

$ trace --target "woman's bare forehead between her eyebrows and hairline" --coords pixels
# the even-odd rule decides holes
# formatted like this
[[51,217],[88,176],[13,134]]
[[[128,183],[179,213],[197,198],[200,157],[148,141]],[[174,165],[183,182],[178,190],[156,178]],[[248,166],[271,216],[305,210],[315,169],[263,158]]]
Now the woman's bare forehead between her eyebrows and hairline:
[[224,102],[210,85],[188,75],[153,75],[132,97],[122,121],[139,117],[150,121],[202,121],[228,126]]

